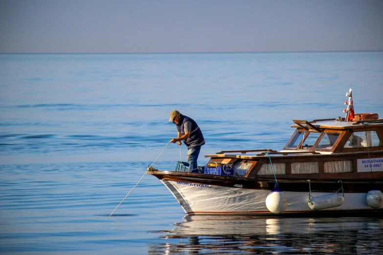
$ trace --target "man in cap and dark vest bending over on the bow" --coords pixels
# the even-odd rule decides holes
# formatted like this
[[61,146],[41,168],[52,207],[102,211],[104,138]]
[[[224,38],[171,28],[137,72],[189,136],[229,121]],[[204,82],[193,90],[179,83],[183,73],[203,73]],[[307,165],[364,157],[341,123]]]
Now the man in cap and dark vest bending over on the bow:
[[172,143],[178,143],[181,146],[181,140],[187,147],[187,161],[189,162],[189,170],[198,172],[197,159],[200,154],[201,146],[205,144],[203,134],[197,123],[182,114],[178,110],[170,113],[169,121],[176,124],[178,135],[177,138],[170,140]]

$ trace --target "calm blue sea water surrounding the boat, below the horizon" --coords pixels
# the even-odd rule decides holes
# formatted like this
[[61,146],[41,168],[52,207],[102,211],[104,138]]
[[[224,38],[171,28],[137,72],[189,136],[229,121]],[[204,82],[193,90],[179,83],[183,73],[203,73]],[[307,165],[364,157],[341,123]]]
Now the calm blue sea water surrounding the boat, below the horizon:
[[[153,176],[176,129],[204,154],[283,148],[292,119],[383,116],[383,52],[0,55],[0,253],[379,254],[382,217],[185,216]],[[182,158],[186,159],[182,147]],[[154,167],[174,170],[169,145]]]

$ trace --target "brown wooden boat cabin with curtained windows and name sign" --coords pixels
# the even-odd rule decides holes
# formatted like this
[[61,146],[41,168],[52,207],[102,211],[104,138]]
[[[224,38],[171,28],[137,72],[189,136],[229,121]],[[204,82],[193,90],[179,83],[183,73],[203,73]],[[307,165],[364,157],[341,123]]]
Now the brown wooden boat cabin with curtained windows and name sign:
[[278,179],[302,180],[383,178],[383,119],[293,122],[296,129],[280,152],[239,150],[205,155],[210,160],[204,173],[253,178],[273,178],[275,173]]

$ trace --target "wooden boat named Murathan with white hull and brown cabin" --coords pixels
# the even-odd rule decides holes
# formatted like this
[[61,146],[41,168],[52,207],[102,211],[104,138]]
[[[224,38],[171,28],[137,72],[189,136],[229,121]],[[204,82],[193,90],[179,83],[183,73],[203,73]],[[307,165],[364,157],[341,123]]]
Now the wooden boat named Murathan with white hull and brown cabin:
[[281,151],[227,150],[205,155],[203,171],[160,171],[156,176],[189,214],[382,212],[383,119],[293,120]]

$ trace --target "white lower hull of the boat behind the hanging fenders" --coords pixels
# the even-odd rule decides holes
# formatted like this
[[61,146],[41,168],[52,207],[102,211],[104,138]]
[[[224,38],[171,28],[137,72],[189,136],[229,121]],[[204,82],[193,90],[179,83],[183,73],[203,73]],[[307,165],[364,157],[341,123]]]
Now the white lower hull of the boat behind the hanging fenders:
[[[203,185],[192,182],[161,182],[172,192],[187,214],[273,214],[266,207],[269,190],[230,188],[215,185]],[[288,206],[282,213],[315,212],[309,205],[309,191],[284,191]],[[312,192],[312,196],[331,194],[332,192]],[[367,193],[344,193],[341,206],[320,211],[358,211],[373,210],[366,201]],[[380,210],[382,210],[380,208]],[[318,211],[316,211],[318,212]]]

